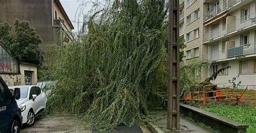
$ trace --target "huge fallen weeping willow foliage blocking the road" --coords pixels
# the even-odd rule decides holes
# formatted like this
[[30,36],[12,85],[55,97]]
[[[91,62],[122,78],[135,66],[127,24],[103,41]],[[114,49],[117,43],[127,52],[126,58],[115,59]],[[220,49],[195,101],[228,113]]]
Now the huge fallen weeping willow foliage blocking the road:
[[98,130],[145,122],[153,102],[164,105],[167,85],[164,1],[111,5],[87,21],[81,42],[57,46],[50,63],[58,82],[48,113],[75,114]]

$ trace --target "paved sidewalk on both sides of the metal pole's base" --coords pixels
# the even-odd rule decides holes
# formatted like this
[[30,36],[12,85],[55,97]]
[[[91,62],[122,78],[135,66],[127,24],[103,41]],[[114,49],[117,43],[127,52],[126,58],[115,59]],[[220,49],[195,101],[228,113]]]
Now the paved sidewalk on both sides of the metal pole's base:
[[[164,133],[169,132],[167,129],[167,120],[161,119],[156,122],[149,122],[149,128],[151,129],[152,133]],[[199,127],[196,123],[186,120],[183,117],[180,117],[180,132],[211,132],[204,128]]]

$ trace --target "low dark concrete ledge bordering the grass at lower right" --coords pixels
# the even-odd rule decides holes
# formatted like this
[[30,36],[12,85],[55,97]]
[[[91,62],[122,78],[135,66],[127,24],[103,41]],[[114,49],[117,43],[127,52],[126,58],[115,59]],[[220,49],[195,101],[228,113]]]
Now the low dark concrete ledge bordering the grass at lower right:
[[204,123],[220,132],[246,132],[248,125],[206,112],[202,109],[180,104],[180,113],[196,122]]

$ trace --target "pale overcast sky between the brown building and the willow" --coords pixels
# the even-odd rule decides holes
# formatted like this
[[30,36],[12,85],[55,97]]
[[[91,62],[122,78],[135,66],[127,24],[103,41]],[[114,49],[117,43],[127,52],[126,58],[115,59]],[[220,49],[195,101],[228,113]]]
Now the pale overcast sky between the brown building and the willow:
[[[89,0],[60,0],[60,2],[63,5],[63,8],[65,9],[66,13],[68,14],[70,20],[72,21],[73,26],[75,27],[74,32],[78,31],[78,17],[76,17],[76,12],[80,4],[85,3],[86,1],[89,2]],[[86,14],[90,9],[92,8],[92,4],[88,3],[86,4],[86,7],[84,8],[83,13]],[[83,17],[81,16],[80,21],[82,21]]]

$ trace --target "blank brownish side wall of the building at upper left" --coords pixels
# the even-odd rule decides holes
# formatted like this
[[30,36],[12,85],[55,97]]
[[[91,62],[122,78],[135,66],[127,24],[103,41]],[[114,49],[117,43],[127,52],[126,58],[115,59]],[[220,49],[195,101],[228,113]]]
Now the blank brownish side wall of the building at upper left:
[[0,22],[8,21],[12,25],[16,18],[28,20],[43,39],[41,47],[55,43],[51,0],[1,0],[0,5]]

